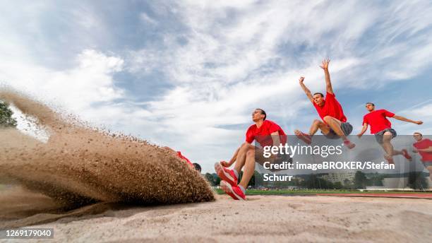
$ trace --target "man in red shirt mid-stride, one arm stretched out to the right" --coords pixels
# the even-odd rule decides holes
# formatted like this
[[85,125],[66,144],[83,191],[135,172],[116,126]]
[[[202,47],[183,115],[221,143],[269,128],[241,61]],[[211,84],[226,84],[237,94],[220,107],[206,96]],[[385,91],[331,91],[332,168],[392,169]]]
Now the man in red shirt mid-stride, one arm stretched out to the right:
[[390,163],[393,164],[394,155],[404,155],[407,160],[411,160],[411,156],[408,154],[406,149],[395,150],[390,142],[392,138],[397,136],[395,129],[392,129],[392,124],[387,117],[392,117],[400,121],[412,122],[414,124],[423,124],[423,121],[413,121],[405,117],[397,116],[392,112],[388,112],[385,109],[375,109],[375,105],[371,102],[366,103],[366,109],[368,114],[363,117],[363,127],[360,133],[357,135],[359,138],[366,132],[368,126],[371,126],[371,134],[375,134],[376,141],[383,147],[385,153],[384,157]]

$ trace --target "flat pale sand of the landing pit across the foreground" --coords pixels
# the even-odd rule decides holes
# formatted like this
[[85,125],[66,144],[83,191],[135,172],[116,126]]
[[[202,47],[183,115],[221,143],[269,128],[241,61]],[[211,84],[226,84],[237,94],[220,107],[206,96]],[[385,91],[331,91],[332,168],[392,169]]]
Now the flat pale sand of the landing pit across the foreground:
[[249,196],[248,201],[232,201],[218,196],[217,201],[208,203],[116,208],[95,215],[75,213],[78,216],[37,227],[54,227],[52,242],[432,240],[432,201],[427,199]]

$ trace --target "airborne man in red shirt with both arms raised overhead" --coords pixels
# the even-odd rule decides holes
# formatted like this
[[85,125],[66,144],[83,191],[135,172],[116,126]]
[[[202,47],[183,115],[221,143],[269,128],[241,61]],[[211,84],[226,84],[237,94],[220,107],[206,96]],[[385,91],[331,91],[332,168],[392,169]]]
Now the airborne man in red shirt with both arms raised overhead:
[[344,115],[342,106],[336,100],[335,93],[333,93],[332,83],[330,82],[330,73],[328,72],[328,64],[330,59],[324,60],[323,64],[320,66],[324,70],[325,74],[325,88],[327,94],[314,93],[312,95],[311,90],[306,88],[304,85],[304,77],[300,77],[300,86],[306,93],[306,96],[311,100],[316,111],[320,115],[320,120],[315,120],[312,123],[311,129],[309,129],[309,134],[304,134],[299,130],[295,130],[294,134],[300,138],[305,143],[311,144],[313,134],[316,134],[318,129],[325,137],[330,139],[342,138],[344,145],[348,148],[354,148],[356,146],[354,143],[348,140],[347,136],[352,132],[352,125],[347,122],[347,117]]

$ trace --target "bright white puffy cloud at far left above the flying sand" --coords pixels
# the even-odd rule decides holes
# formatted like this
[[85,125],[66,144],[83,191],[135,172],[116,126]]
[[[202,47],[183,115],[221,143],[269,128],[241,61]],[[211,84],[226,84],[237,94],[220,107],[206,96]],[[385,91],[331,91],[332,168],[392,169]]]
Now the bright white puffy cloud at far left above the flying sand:
[[6,84],[47,101],[57,100],[73,112],[84,112],[94,102],[123,96],[112,79],[112,73],[121,71],[122,59],[88,49],[78,54],[76,61],[78,66],[65,71],[11,62],[0,64],[0,70]]

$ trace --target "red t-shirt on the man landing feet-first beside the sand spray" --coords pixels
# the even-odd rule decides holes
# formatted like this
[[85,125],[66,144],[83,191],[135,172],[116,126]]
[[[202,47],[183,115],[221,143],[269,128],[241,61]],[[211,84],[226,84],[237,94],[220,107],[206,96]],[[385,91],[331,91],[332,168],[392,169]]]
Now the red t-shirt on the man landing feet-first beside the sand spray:
[[284,130],[273,121],[265,120],[263,124],[258,128],[256,124],[249,126],[246,131],[246,142],[252,143],[256,140],[261,146],[272,146],[273,139],[270,134],[275,131],[279,131],[279,139],[282,144],[287,143],[287,136],[285,136]]

